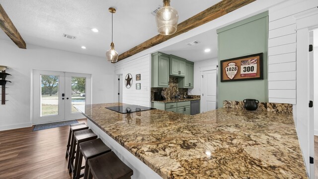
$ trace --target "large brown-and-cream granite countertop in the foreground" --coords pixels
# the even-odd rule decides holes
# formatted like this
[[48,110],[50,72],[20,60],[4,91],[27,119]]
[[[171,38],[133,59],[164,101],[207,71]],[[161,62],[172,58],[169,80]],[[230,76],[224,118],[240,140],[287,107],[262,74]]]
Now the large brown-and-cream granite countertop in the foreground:
[[85,115],[164,179],[308,178],[292,114],[105,108],[114,105],[86,105]]

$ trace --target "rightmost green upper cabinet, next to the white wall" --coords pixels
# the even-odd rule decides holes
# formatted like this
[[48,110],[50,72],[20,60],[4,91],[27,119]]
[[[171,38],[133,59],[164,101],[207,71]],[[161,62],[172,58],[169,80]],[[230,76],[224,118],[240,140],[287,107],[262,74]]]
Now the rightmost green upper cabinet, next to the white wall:
[[178,78],[178,88],[193,88],[194,84],[194,67],[193,62],[186,61],[185,63],[185,76]]

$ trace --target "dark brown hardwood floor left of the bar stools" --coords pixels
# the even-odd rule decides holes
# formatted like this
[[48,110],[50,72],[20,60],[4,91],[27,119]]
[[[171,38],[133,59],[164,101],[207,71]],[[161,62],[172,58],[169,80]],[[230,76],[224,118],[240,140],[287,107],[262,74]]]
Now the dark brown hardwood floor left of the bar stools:
[[70,126],[32,129],[0,131],[0,179],[72,179],[65,159]]

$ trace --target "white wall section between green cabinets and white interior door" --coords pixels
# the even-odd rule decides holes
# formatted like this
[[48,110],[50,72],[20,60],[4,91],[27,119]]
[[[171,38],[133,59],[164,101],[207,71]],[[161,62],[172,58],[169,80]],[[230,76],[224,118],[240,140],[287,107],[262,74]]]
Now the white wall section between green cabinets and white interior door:
[[198,62],[194,62],[194,73],[193,73],[193,79],[194,79],[194,86],[193,89],[188,89],[188,94],[191,95],[201,95],[201,68],[202,67],[209,67],[213,65],[218,65],[218,59],[209,59],[209,60],[202,60]]

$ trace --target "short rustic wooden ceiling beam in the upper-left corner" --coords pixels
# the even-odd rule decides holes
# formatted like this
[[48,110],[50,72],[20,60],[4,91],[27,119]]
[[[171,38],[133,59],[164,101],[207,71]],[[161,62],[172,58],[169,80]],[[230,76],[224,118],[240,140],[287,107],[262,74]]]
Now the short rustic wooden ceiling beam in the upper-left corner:
[[17,45],[19,48],[26,49],[26,44],[21,37],[18,30],[13,25],[12,21],[5,13],[3,7],[0,4],[0,27],[4,33]]

